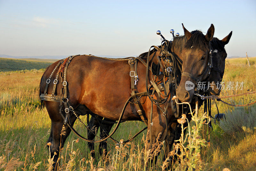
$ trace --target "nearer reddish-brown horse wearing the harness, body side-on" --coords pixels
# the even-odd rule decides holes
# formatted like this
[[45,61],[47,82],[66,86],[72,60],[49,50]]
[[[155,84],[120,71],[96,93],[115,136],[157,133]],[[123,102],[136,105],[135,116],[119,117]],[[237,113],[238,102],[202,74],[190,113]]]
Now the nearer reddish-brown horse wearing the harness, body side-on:
[[[205,74],[204,71],[206,71],[208,67],[207,64],[209,63],[210,59],[208,55],[210,52],[209,41],[213,37],[214,27],[211,25],[205,36],[201,32],[191,35],[191,33],[189,33],[184,26],[183,29],[188,41],[186,42],[185,48],[181,51],[180,55],[182,61],[185,61],[183,62],[182,70],[191,72],[190,74],[195,78],[207,77],[208,74]],[[192,42],[189,40],[192,40]],[[186,46],[187,44],[189,48]],[[191,44],[195,48],[190,48]],[[150,63],[158,63],[157,59],[153,58],[153,55],[157,54],[154,53],[149,56]],[[206,57],[203,59],[204,55]],[[188,58],[190,59],[190,63],[188,63]],[[44,93],[47,78],[49,78],[57,63],[58,61],[53,63],[44,72],[40,82],[40,94]],[[194,66],[196,63],[200,63],[201,67]],[[187,66],[185,66],[185,64]],[[137,73],[140,80],[137,83],[136,88],[138,92],[145,92],[145,66],[142,63],[138,63],[137,65]],[[114,61],[86,55],[76,56],[68,65],[68,72],[66,76],[68,82],[67,99],[77,115],[96,114],[108,119],[118,120],[120,113],[122,112],[123,105],[126,103],[127,99],[130,98],[131,77],[129,73],[130,66],[127,64],[127,61]],[[56,74],[57,73],[54,73],[52,77],[55,77]],[[186,79],[191,80],[192,78],[181,78],[183,82],[186,81]],[[61,81],[58,80],[58,83],[59,82]],[[47,94],[51,93],[52,88],[53,84],[49,83]],[[59,94],[60,89],[57,89],[57,95]],[[180,92],[177,92],[177,94],[180,96]],[[192,96],[189,96],[189,98],[192,98]],[[141,100],[145,101],[145,103],[141,104],[141,106],[146,114],[146,117],[149,118],[151,113],[151,100],[147,98],[147,96],[142,97]],[[56,167],[59,151],[63,147],[71,130],[68,126],[66,126],[66,134],[62,135],[61,137],[60,133],[63,126],[63,118],[59,113],[60,104],[56,101],[44,100],[44,105],[52,120],[51,133],[47,142],[49,142],[48,145],[50,147],[50,154],[51,157],[54,156],[54,167]],[[164,133],[167,131],[165,123],[167,116],[169,118],[174,117],[172,115],[171,108],[167,108],[167,113],[164,116],[156,106],[153,106],[153,124],[150,126],[150,129],[152,130],[150,139],[152,139],[152,141],[150,141],[149,147],[156,142],[156,137],[159,133]],[[141,120],[140,115],[133,104],[130,104],[130,106],[126,108],[122,120]],[[69,123],[73,125],[75,121],[76,116],[71,115]],[[148,123],[148,125],[150,125],[150,123]],[[54,155],[54,153],[57,153],[57,155]]]

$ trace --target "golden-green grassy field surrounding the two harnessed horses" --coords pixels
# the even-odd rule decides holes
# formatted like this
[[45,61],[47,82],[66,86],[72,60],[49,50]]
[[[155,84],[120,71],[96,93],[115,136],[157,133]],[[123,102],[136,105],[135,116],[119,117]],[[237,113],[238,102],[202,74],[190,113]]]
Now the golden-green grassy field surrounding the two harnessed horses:
[[[223,81],[243,81],[244,87],[242,90],[222,90],[221,96],[256,91],[256,65],[251,63],[251,67],[248,67],[246,61],[246,59],[227,59]],[[256,61],[256,58],[250,58],[250,61]],[[13,70],[18,70],[20,66],[15,66],[15,63],[21,63],[21,60],[12,62]],[[35,63],[39,65],[38,61]],[[45,62],[44,67],[41,65],[42,68],[47,67],[47,64],[50,63]],[[14,168],[24,171],[47,170],[51,163],[46,146],[51,121],[46,109],[39,108],[38,98],[39,81],[44,69],[22,72],[10,70],[6,69],[8,72],[0,74],[0,170],[14,170]],[[225,99],[233,104],[246,104],[255,100],[255,94]],[[211,141],[202,152],[204,163],[202,170],[222,171],[227,167],[231,171],[255,171],[256,106],[231,107],[220,102],[217,104],[220,113],[226,114],[227,121],[213,123]],[[214,105],[212,113],[217,113]],[[86,121],[86,116],[82,119]],[[141,122],[122,123],[113,138],[127,139],[143,127]],[[76,123],[75,129],[86,136],[87,131],[81,124]],[[143,134],[135,138],[132,143],[119,148],[116,148],[115,144],[109,140],[109,158],[101,160],[97,156],[98,162],[92,162],[90,159],[87,143],[83,140],[77,142],[76,139],[77,137],[71,133],[61,152],[60,164],[63,170],[144,169],[142,167],[145,156]],[[96,154],[98,154],[98,145],[97,143],[95,145]],[[162,154],[155,170],[162,170],[164,164],[161,160]]]

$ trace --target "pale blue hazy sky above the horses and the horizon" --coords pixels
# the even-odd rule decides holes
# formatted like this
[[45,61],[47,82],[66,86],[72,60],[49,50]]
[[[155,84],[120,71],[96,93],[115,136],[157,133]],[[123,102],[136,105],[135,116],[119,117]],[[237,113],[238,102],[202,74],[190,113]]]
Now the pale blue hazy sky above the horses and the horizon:
[[256,56],[256,1],[0,1],[0,54],[136,56],[159,45],[161,30],[224,38],[228,56]]

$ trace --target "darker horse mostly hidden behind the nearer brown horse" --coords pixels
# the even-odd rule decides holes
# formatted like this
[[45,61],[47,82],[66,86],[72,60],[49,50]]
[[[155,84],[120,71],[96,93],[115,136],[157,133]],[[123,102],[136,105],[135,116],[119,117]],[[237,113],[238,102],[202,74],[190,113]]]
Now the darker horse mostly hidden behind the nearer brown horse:
[[[191,32],[192,34],[195,33],[195,31]],[[206,87],[208,88],[208,93],[213,95],[219,95],[221,86],[220,82],[222,80],[224,69],[225,69],[225,58],[227,57],[226,50],[224,46],[228,44],[230,38],[232,35],[232,31],[222,40],[219,40],[218,38],[213,38],[210,41],[210,45],[213,51],[212,54],[212,68],[211,73],[209,77],[206,80],[202,80],[202,82],[206,82],[207,84],[210,83],[211,86]],[[172,51],[175,54],[180,54],[185,43],[187,41],[186,36],[180,36],[175,37],[172,44]],[[199,108],[203,104],[203,100],[199,98]],[[192,108],[195,108],[195,99],[192,100]],[[191,115],[188,116],[189,119],[191,119]],[[108,120],[111,121],[111,120]],[[175,125],[177,123],[175,122],[173,125],[173,128],[169,130],[168,135],[169,137],[165,141],[166,143],[166,154],[168,155],[169,149],[172,147],[173,141],[174,141],[174,135],[172,134],[174,130],[176,130]],[[97,133],[98,129],[100,128],[100,137],[105,138],[107,137],[107,134],[111,130],[113,124],[108,123],[99,123],[96,118],[92,117],[90,120],[89,128],[94,131],[94,134]],[[186,127],[186,126],[185,126]],[[175,128],[175,129],[174,129]],[[181,127],[180,127],[181,128]],[[171,133],[172,132],[172,133]],[[93,140],[95,135],[92,132],[88,131],[88,138]],[[181,130],[178,129],[176,133],[176,139],[180,138]],[[92,156],[94,156],[94,143],[88,143],[88,146],[92,152]],[[169,148],[168,148],[169,146]],[[107,143],[101,142],[99,145],[99,152],[100,155],[102,155],[103,150],[105,153],[107,153]],[[106,155],[106,154],[105,154]]]

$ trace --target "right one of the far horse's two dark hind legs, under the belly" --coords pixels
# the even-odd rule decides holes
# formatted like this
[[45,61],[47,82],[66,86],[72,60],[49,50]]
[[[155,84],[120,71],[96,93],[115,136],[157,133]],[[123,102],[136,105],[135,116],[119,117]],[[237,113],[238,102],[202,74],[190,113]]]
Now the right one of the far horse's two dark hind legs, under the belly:
[[[115,122],[114,120],[110,120],[107,118],[104,118],[104,121]],[[109,134],[111,128],[113,127],[113,125],[114,125],[113,123],[104,123],[104,122],[100,123],[100,139],[108,137],[108,134]],[[106,141],[100,142],[99,152],[100,152],[100,156],[102,156],[103,152],[104,152],[104,157],[107,156],[108,151],[107,151],[107,142]]]

